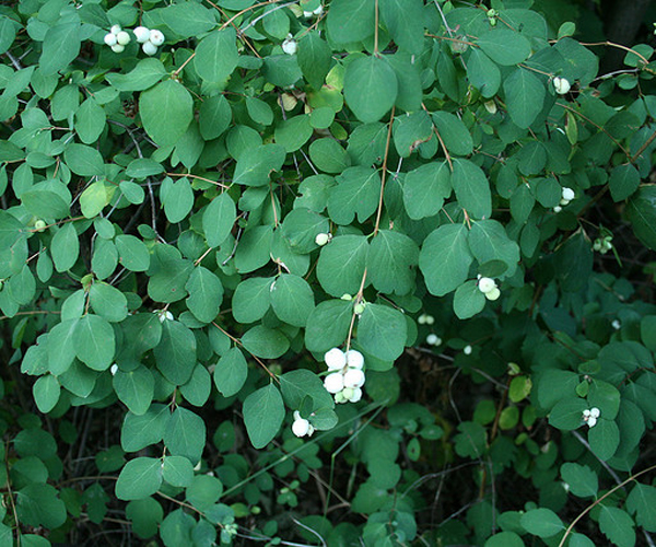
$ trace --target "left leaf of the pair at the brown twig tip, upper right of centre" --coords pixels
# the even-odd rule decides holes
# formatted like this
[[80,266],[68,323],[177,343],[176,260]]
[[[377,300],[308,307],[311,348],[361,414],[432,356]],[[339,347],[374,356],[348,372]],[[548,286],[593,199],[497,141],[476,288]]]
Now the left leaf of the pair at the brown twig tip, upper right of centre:
[[450,193],[450,172],[446,162],[431,162],[410,171],[403,182],[408,217],[413,220],[434,217]]

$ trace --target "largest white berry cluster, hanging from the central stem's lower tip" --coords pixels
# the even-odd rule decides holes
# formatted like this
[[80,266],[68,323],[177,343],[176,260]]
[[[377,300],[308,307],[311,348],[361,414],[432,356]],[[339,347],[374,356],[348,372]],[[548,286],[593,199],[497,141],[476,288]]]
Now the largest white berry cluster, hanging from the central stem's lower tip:
[[358,403],[362,398],[364,385],[364,357],[355,349],[345,353],[332,348],[324,356],[329,374],[324,379],[324,387],[335,395],[335,403]]

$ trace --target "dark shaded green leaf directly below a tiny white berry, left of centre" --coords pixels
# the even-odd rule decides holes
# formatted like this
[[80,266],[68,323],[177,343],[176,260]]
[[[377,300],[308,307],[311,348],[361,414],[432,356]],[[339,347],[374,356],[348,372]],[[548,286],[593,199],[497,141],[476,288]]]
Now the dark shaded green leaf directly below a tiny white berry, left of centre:
[[174,385],[188,382],[196,366],[196,337],[177,321],[165,321],[153,353],[160,372]]

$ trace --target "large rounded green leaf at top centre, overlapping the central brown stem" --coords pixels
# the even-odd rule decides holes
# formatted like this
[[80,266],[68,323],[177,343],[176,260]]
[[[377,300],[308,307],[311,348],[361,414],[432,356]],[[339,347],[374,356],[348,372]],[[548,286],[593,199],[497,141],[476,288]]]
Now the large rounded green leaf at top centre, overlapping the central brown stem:
[[396,73],[384,58],[361,57],[347,66],[344,98],[362,123],[378,121],[394,106],[397,93]]

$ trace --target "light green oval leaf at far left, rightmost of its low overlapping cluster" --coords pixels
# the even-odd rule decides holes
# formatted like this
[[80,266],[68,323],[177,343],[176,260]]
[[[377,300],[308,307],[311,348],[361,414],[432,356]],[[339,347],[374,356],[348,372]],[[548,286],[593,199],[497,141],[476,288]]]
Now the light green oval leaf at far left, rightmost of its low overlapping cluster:
[[114,329],[99,315],[86,314],[75,325],[73,346],[80,361],[90,369],[104,371],[114,361]]

